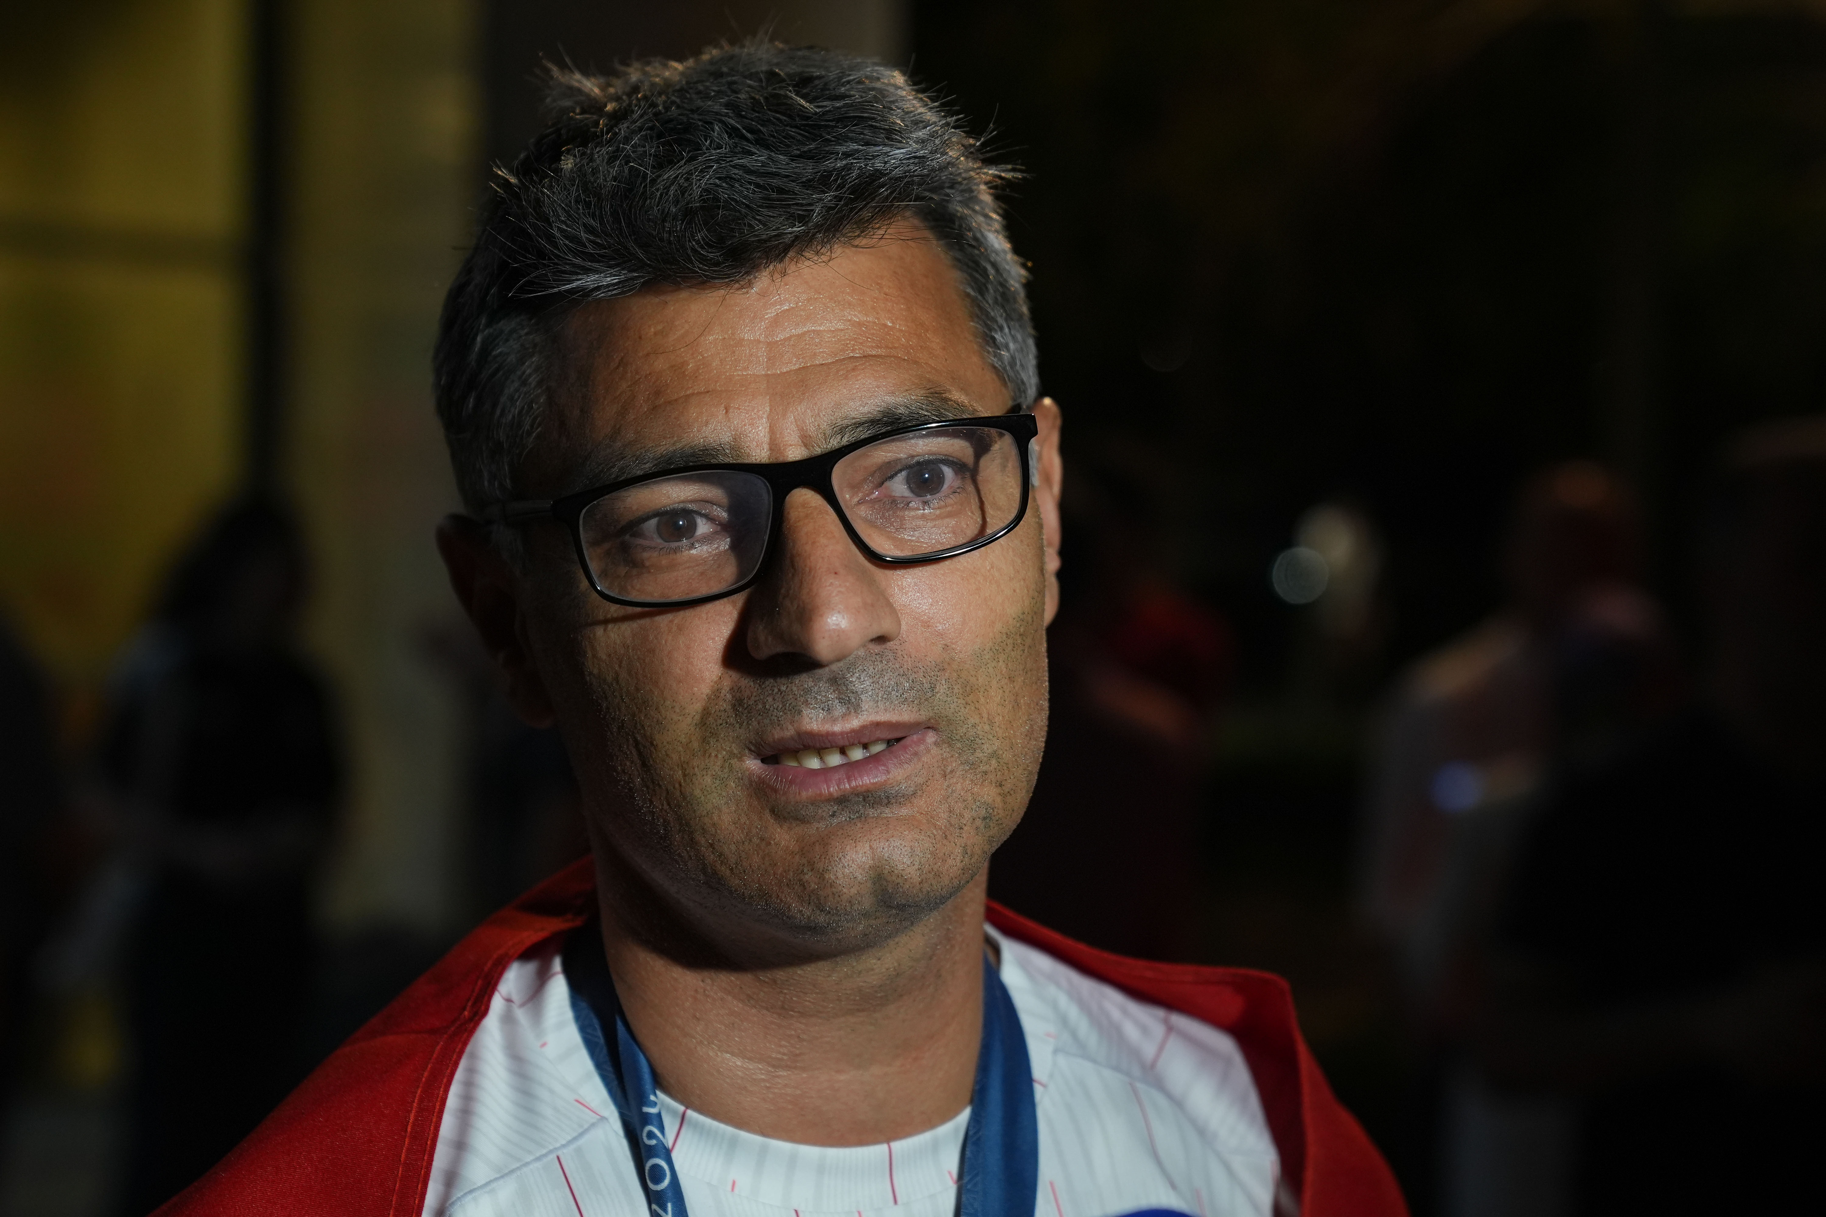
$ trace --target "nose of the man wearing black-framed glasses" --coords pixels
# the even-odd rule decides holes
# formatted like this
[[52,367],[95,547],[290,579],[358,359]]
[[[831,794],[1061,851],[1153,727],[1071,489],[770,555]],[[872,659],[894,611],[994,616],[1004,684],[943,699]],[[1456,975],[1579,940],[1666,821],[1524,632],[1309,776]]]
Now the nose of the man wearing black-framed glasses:
[[825,666],[900,637],[880,571],[816,493],[802,487],[787,498],[778,546],[749,593],[754,659],[800,655]]

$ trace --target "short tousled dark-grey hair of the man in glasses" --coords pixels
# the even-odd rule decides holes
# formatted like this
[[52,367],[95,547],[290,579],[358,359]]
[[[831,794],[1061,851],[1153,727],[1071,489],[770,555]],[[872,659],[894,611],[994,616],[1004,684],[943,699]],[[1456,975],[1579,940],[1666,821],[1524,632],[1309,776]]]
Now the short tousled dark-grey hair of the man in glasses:
[[1026,270],[995,199],[1015,175],[902,73],[747,42],[610,77],[553,69],[550,109],[497,168],[438,325],[438,418],[471,511],[515,496],[579,303],[745,283],[900,217],[951,259],[1010,396],[1039,396]]

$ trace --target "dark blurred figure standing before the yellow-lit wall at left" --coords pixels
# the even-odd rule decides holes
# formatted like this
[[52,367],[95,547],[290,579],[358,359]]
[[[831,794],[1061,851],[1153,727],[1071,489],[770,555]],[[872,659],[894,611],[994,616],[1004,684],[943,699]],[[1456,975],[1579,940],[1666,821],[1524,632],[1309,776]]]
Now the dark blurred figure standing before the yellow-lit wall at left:
[[115,675],[100,770],[144,874],[122,1213],[203,1175],[303,1073],[312,879],[341,785],[331,697],[296,639],[305,578],[285,509],[228,505]]

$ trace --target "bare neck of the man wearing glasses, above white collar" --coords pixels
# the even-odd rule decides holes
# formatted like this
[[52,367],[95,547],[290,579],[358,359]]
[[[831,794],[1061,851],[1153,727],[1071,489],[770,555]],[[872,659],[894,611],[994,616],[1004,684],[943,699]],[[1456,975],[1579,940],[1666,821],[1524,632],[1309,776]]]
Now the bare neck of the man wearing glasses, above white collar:
[[862,1146],[970,1104],[986,874],[889,941],[774,967],[656,947],[614,889],[626,892],[599,883],[615,993],[661,1089],[685,1108],[778,1140]]

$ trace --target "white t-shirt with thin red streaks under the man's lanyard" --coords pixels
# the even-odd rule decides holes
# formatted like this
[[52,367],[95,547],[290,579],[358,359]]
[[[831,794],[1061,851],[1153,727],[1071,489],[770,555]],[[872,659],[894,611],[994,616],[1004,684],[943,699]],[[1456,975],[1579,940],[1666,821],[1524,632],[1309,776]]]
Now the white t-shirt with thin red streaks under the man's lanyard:
[[[1236,1042],[995,934],[1039,1117],[1035,1217],[1269,1217],[1275,1142]],[[429,1217],[646,1217],[557,940],[511,963],[451,1084]],[[966,1108],[882,1146],[756,1137],[661,1095],[690,1217],[953,1217]]]

